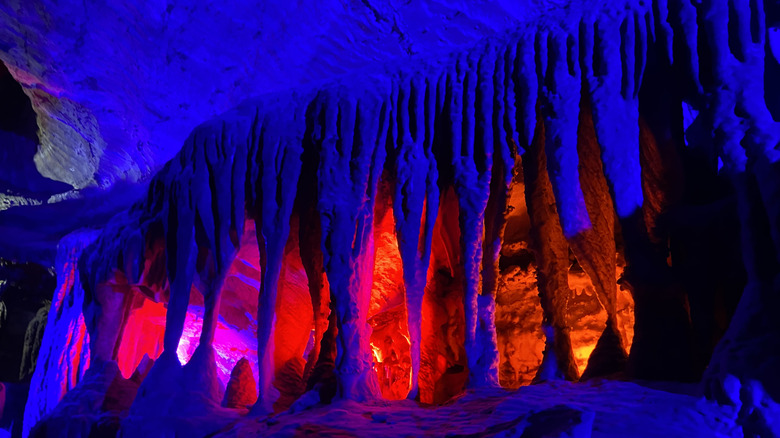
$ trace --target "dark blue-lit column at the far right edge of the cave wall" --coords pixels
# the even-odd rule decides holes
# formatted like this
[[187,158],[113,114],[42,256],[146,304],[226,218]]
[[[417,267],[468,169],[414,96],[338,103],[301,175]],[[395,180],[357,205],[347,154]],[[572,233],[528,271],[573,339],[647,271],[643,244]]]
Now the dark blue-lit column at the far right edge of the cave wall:
[[737,194],[747,272],[747,285],[703,384],[708,396],[732,404],[740,400],[728,390],[729,380],[738,380],[739,421],[756,427],[768,419],[761,418],[761,394],[753,388],[763,386],[769,397],[780,397],[780,360],[767,353],[780,348],[780,127],[764,104],[766,16],[761,2],[739,0],[709,2],[703,12],[709,19],[700,29],[705,36],[700,44],[709,47],[713,67],[711,83],[702,84],[710,97],[706,120]]

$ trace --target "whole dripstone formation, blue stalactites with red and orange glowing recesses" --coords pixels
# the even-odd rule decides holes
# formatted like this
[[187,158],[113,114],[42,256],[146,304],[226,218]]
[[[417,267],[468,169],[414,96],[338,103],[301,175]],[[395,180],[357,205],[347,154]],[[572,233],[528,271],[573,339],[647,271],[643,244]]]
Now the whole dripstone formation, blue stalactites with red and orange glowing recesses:
[[197,127],[145,199],[86,247],[61,244],[60,286],[83,301],[57,305],[83,306],[90,366],[56,408],[64,391],[31,397],[26,427],[83,409],[80,387],[118,400],[100,427],[125,436],[594,377],[777,396],[777,358],[746,340],[780,339],[757,306],[777,301],[780,134],[763,81],[729,74],[763,71],[747,24],[762,15],[669,3],[545,21]]

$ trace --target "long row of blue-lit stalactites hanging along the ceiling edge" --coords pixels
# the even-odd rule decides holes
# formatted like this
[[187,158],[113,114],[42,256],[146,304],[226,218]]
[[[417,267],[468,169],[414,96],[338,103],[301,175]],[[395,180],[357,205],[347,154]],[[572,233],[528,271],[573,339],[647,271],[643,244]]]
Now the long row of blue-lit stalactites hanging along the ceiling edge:
[[[567,238],[591,227],[577,152],[583,96],[590,99],[618,216],[628,217],[642,206],[638,95],[648,53],[653,52],[648,47],[659,49],[656,58],[690,74],[699,88],[694,94],[705,96],[696,46],[704,35],[717,55],[712,58],[713,80],[734,86],[710,96],[716,103],[711,107],[713,129],[728,133],[718,152],[727,166],[736,167],[744,167],[745,155],[772,152],[765,148],[768,128],[756,126],[759,122],[774,126],[771,118],[746,101],[763,81],[735,83],[741,73],[762,74],[758,58],[763,59],[763,34],[748,31],[756,20],[762,29],[761,2],[705,3],[694,7],[687,0],[668,4],[657,0],[626,8],[621,4],[570,16],[566,22],[531,25],[413,68],[385,66],[247,102],[196,128],[177,157],[155,176],[148,198],[108,225],[83,260],[87,288],[94,295],[114,270],[123,272],[130,283],[143,282],[150,241],[164,241],[166,251],[160,255],[165,257],[167,278],[156,281],[162,282],[159,288],[170,289],[165,350],[175,351],[193,279],[205,284],[206,293],[215,294],[218,301],[220,278],[248,215],[257,222],[262,264],[258,403],[267,406],[270,395],[264,391],[271,392],[270,376],[262,364],[269,363],[273,349],[273,303],[290,215],[296,194],[316,193],[319,250],[336,303],[340,391],[350,398],[371,397],[377,391],[371,382],[370,329],[365,321],[365,285],[370,285],[365,264],[370,264],[367,253],[373,244],[377,183],[383,170],[389,170],[406,283],[412,393],[419,371],[419,307],[431,231],[439,194],[449,186],[455,188],[460,206],[470,382],[495,383],[498,359],[490,320],[496,285],[490,272],[495,269],[495,242],[500,239],[514,154],[531,147],[538,117],[543,120],[547,170]],[[725,26],[724,17],[734,19],[731,8],[737,9],[736,41],[742,48],[738,56],[720,56],[733,52],[731,38],[718,33]],[[697,22],[705,23],[703,33]],[[682,50],[673,52],[673,47]],[[717,84],[710,85],[720,90]],[[740,109],[750,123],[731,129],[727,125],[739,123],[734,114]],[[745,143],[733,137],[735,132],[750,140],[744,149]],[[499,193],[491,187],[500,187]],[[491,196],[498,196],[493,202],[498,207],[487,208]],[[209,302],[213,305],[214,300],[206,301],[207,307]]]

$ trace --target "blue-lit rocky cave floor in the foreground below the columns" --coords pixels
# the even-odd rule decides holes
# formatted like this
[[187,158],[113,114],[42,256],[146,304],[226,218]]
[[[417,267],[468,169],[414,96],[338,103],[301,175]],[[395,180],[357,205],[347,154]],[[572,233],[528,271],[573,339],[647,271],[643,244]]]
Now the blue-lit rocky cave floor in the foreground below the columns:
[[742,436],[734,407],[689,395],[694,391],[691,385],[601,380],[469,391],[435,407],[342,401],[268,420],[243,417],[211,436]]

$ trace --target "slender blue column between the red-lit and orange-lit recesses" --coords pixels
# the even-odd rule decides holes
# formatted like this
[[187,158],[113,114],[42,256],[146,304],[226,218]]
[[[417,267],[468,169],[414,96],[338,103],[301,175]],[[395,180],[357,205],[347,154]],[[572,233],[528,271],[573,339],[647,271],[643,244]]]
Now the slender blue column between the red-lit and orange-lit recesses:
[[[468,385],[498,385],[492,296],[482,293],[485,207],[490,194],[493,144],[493,72],[495,47],[458,59],[447,77],[448,116],[455,194],[458,197],[460,248],[464,267],[465,348]],[[480,304],[482,312],[480,312]],[[480,324],[480,313],[487,323]]]

